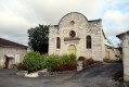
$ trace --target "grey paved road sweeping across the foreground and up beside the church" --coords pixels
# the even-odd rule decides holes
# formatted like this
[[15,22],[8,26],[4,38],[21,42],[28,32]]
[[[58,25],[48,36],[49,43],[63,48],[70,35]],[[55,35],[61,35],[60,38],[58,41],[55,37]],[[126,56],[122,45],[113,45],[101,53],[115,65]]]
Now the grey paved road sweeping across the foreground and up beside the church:
[[15,70],[0,70],[0,87],[118,87],[109,78],[120,69],[119,63],[104,63],[76,74],[37,78],[16,76]]

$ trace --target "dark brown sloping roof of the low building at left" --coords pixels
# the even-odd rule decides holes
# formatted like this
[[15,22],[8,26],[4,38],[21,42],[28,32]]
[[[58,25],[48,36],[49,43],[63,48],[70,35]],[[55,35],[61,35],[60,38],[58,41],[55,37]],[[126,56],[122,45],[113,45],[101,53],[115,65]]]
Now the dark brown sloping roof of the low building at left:
[[0,46],[10,46],[10,47],[21,47],[21,48],[27,48],[27,46],[17,44],[17,42],[13,42],[3,38],[0,38]]

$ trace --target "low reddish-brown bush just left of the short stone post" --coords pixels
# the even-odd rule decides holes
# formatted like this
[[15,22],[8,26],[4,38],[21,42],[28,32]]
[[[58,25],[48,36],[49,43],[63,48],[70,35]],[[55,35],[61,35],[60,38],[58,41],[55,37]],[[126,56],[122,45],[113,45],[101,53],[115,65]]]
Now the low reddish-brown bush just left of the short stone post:
[[74,71],[74,70],[76,70],[76,62],[68,62],[59,66],[54,66],[52,69],[53,72]]

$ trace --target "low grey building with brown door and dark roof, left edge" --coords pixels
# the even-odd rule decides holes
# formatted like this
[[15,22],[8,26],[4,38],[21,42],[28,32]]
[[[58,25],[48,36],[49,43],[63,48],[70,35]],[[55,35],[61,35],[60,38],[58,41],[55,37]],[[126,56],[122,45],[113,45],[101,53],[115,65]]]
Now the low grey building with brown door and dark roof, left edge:
[[11,67],[23,61],[27,46],[0,38],[0,67]]

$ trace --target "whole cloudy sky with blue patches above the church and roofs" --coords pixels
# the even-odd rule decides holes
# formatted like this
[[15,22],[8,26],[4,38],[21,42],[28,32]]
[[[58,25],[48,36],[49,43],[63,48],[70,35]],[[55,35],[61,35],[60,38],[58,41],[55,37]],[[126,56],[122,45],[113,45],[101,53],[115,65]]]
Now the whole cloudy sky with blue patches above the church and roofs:
[[129,30],[129,0],[0,0],[0,37],[27,45],[27,29],[57,25],[69,12],[89,21],[102,18],[105,36],[115,45],[117,34]]

